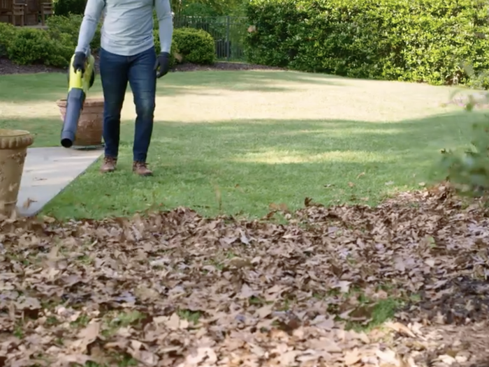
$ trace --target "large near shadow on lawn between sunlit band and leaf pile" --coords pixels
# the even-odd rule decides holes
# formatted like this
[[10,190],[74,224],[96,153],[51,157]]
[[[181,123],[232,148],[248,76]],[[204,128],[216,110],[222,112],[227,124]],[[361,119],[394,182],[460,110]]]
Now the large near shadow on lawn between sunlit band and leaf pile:
[[434,170],[440,149],[465,146],[469,122],[479,118],[461,113],[397,123],[156,123],[151,179],[131,173],[133,123],[126,123],[118,171],[101,175],[98,164],[92,166],[44,213],[103,218],[185,206],[204,215],[256,218],[274,203],[298,209],[305,197],[377,204],[396,190],[441,179]]

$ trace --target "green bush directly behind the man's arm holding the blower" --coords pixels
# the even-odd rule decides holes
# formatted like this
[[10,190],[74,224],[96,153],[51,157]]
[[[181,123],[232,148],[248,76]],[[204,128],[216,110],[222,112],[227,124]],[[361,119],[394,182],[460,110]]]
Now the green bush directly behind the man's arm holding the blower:
[[[78,32],[80,31],[82,20],[82,15],[54,15],[48,17],[46,24],[48,25],[50,38],[64,42],[64,45],[73,49],[72,53],[75,52],[75,47],[78,43]],[[101,28],[102,24],[99,22],[94,38],[90,43],[92,53],[95,53],[100,49]]]

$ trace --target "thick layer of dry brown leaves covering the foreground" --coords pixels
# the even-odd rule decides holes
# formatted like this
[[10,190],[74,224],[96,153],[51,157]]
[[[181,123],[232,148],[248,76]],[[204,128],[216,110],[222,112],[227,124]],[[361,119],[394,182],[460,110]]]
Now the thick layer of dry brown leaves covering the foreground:
[[480,204],[440,186],[284,215],[0,221],[0,366],[489,361]]

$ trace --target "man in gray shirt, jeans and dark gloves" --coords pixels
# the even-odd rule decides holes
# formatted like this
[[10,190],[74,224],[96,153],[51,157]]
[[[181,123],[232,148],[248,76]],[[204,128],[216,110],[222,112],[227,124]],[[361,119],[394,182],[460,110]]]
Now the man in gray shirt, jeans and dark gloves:
[[[161,53],[156,56],[153,9],[159,22]],[[100,57],[103,88],[103,140],[105,157],[101,172],[113,172],[119,153],[122,104],[127,83],[136,105],[133,172],[151,176],[146,165],[153,130],[156,77],[170,68],[173,19],[169,0],[88,0],[80,26],[73,68],[85,71],[86,52],[104,13]]]

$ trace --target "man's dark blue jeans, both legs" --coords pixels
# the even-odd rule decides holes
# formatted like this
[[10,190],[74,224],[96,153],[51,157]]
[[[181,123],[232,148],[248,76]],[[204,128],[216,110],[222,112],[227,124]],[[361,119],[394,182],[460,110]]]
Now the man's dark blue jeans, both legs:
[[133,56],[112,54],[100,50],[100,77],[103,88],[103,140],[105,156],[117,158],[121,110],[127,82],[136,105],[133,160],[145,162],[153,133],[156,71],[154,47]]

